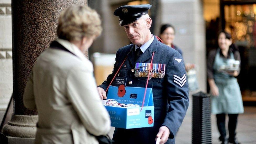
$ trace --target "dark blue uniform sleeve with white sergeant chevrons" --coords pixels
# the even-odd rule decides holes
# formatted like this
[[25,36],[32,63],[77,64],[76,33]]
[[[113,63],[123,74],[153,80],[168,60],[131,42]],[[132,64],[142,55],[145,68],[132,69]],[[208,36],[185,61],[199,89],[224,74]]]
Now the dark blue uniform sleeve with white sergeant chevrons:
[[174,61],[176,58],[182,58],[179,52],[175,52],[170,58],[165,73],[166,85],[164,89],[167,91],[169,109],[162,126],[167,126],[170,130],[169,138],[174,138],[182,121],[186,115],[189,106],[188,98],[188,82],[185,72],[185,66],[182,62]]

